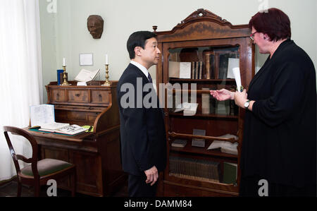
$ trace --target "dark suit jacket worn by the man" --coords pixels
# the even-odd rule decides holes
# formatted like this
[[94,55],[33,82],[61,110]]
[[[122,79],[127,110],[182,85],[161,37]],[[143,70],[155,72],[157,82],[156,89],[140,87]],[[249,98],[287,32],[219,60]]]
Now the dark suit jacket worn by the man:
[[[144,73],[129,64],[117,87],[123,171],[133,175],[142,175],[153,166],[158,171],[166,167],[166,131],[159,99],[156,94],[151,99],[157,102],[154,107],[147,108],[143,104],[144,97],[149,97],[151,89],[154,91],[152,84],[147,85],[151,88],[149,91],[143,91],[148,83]],[[127,104],[130,106],[126,107]]]

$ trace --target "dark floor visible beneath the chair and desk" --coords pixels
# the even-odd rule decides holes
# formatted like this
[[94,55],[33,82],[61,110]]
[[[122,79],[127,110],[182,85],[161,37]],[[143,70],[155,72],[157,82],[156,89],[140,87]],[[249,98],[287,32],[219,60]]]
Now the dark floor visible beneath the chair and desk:
[[[48,197],[46,194],[47,186],[42,186],[40,197]],[[0,197],[16,197],[16,193],[18,190],[18,184],[15,181],[8,182],[4,185],[0,186]],[[23,186],[22,187],[22,197],[33,197],[34,192],[32,187]],[[57,189],[57,197],[70,197],[70,191],[65,191],[60,188]],[[113,193],[113,197],[127,197],[128,196],[128,188],[127,186],[123,186],[118,192]],[[90,195],[84,195],[80,193],[76,193],[76,197],[92,197]]]

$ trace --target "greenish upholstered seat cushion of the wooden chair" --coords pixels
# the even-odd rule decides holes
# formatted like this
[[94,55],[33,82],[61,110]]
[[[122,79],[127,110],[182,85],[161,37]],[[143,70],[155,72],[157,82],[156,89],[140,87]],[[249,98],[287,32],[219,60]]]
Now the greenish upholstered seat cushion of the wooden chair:
[[[37,162],[39,176],[46,176],[70,167],[72,164],[59,159],[42,159]],[[21,169],[21,173],[27,176],[33,176],[31,164]]]

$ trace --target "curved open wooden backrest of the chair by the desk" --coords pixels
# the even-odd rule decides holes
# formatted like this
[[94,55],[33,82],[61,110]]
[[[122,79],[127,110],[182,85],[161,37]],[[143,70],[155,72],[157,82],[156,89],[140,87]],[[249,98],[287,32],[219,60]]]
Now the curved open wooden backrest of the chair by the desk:
[[[23,155],[15,154],[15,150],[13,149],[8,132],[11,132],[14,135],[22,135],[24,138],[30,141],[32,145],[31,158],[26,158]],[[20,172],[20,165],[18,163],[18,160],[20,159],[23,162],[31,163],[34,178],[35,179],[39,178],[39,172],[37,171],[37,152],[38,152],[37,148],[38,147],[37,147],[37,141],[35,140],[35,138],[30,133],[27,133],[27,131],[24,131],[23,129],[20,129],[20,128],[11,127],[11,126],[4,126],[4,136],[6,137],[6,142],[8,143],[8,147],[9,147],[9,150],[15,165],[16,174]]]

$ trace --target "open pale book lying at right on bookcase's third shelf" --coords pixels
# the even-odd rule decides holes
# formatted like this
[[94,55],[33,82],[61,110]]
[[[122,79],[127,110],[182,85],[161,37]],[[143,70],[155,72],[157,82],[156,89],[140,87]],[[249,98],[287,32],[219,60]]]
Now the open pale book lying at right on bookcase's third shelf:
[[[221,135],[221,136],[218,136],[218,138],[234,138],[236,141],[239,139],[236,135],[231,135],[231,134]],[[209,145],[207,150],[220,148],[220,151],[223,153],[237,155],[237,146],[238,146],[237,142],[231,143],[229,141],[224,141],[224,140],[213,140],[213,143]]]

